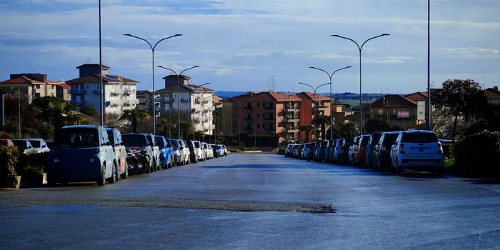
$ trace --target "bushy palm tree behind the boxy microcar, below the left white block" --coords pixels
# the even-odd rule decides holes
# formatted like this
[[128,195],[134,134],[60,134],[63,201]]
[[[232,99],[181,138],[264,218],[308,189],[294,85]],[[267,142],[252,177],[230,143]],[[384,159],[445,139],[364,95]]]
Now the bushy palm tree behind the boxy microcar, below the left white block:
[[53,100],[44,108],[34,106],[33,109],[38,112],[38,117],[42,121],[49,122],[54,125],[55,129],[59,129],[67,125],[76,125],[86,120],[86,116],[76,111],[77,104],[69,104],[64,100]]

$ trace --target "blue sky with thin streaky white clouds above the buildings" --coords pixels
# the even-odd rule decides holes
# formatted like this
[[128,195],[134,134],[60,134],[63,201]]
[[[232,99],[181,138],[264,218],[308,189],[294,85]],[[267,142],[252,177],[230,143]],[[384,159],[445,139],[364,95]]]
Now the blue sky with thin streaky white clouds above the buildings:
[[[433,87],[447,79],[500,85],[500,1],[431,0]],[[367,41],[361,52],[363,93],[426,91],[425,0],[101,0],[102,61],[110,73],[164,87],[185,71],[216,91],[359,93],[359,49],[338,34]],[[0,0],[0,81],[10,74],[78,78],[77,66],[99,64],[99,1]],[[312,87],[298,84],[302,82]],[[318,90],[329,92],[329,86]]]

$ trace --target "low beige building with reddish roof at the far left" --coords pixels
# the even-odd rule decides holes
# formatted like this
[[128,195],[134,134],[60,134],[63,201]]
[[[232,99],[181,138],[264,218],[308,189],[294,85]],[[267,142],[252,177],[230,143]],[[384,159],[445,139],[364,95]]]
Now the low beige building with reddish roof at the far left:
[[14,93],[20,91],[28,96],[29,103],[36,97],[57,96],[61,99],[69,99],[65,89],[68,85],[64,81],[50,81],[46,74],[26,73],[11,74],[10,79],[0,82],[0,90],[4,93]]

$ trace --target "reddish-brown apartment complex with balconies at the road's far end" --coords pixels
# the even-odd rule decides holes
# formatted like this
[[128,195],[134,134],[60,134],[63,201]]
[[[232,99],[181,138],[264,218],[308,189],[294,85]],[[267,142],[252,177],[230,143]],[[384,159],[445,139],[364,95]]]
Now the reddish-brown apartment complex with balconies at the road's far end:
[[[281,94],[276,92],[247,93],[222,100],[225,132],[236,134],[278,134],[279,142],[306,139],[301,125],[311,125],[314,116],[330,115],[330,99],[319,94],[301,92]],[[326,126],[329,128],[329,124]],[[317,128],[319,130],[319,128]],[[312,139],[312,133],[309,141]]]

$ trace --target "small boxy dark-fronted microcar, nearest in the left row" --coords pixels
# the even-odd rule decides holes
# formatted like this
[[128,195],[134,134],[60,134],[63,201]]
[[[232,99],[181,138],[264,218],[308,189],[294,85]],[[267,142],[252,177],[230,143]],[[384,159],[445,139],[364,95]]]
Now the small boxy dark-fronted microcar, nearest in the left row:
[[116,181],[116,163],[106,129],[102,126],[64,126],[56,131],[54,147],[46,161],[47,181],[96,181],[102,186]]

